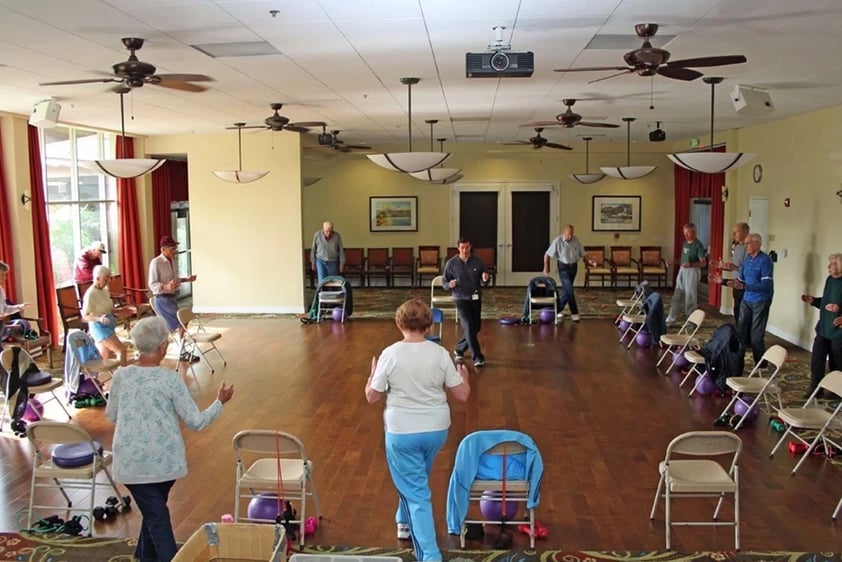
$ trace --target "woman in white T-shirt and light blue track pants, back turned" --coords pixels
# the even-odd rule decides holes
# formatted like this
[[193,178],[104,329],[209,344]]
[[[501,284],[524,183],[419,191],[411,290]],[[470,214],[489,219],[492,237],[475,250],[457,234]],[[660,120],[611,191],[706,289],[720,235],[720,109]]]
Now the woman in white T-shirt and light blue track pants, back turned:
[[430,308],[419,299],[395,313],[403,340],[371,360],[365,386],[370,404],[386,397],[386,462],[398,491],[398,538],[412,538],[418,560],[441,560],[430,501],[430,471],[450,427],[444,387],[465,402],[471,393],[465,365],[453,364],[442,346],[424,337],[432,324]]

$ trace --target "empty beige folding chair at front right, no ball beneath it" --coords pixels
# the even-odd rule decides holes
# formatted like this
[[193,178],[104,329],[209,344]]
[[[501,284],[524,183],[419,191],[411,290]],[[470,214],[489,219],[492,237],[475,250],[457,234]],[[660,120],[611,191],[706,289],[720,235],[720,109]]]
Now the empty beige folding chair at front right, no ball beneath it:
[[[734,548],[740,549],[740,486],[737,460],[742,446],[742,440],[729,431],[691,431],[679,435],[667,446],[664,460],[658,465],[661,478],[658,481],[655,500],[652,502],[652,511],[649,513],[649,519],[654,519],[658,499],[663,497],[667,550],[670,549],[670,530],[673,525],[732,526]],[[727,465],[714,460],[724,458],[725,455],[730,457]],[[726,494],[734,496],[733,521],[718,520]],[[718,498],[712,521],[672,520],[673,499],[700,497]]]

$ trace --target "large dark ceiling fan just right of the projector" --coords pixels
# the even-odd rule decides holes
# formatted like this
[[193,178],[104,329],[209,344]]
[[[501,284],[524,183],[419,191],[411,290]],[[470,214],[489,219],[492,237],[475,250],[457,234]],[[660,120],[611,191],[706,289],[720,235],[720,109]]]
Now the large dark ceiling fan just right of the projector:
[[675,80],[695,80],[702,76],[702,73],[693,70],[693,67],[702,68],[709,66],[725,66],[729,64],[740,64],[747,59],[743,55],[724,55],[718,57],[699,57],[694,59],[682,59],[670,61],[670,52],[664,49],[653,47],[649,39],[658,32],[656,23],[639,23],[634,26],[637,36],[643,39],[643,45],[639,49],[629,51],[623,55],[623,60],[628,66],[590,66],[582,68],[557,68],[556,72],[594,72],[618,70],[616,74],[591,80],[589,83],[599,82],[621,74],[637,73],[639,76],[654,76],[660,74]]

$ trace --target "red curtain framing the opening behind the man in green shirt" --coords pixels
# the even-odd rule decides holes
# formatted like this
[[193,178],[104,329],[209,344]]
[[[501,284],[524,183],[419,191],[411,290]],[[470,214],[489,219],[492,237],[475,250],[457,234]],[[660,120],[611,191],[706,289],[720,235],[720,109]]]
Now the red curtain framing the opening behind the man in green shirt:
[[[715,149],[725,152],[725,147]],[[725,185],[725,174],[702,174],[675,166],[675,235],[673,241],[676,261],[681,258],[681,246],[684,244],[683,226],[690,220],[690,200],[696,197],[707,198],[711,201],[710,210],[710,248],[708,252],[713,259],[722,259],[723,231],[725,229],[725,204],[722,202],[722,186]],[[673,275],[678,272],[673,268]],[[710,284],[708,304],[719,307],[721,291],[718,284]]]

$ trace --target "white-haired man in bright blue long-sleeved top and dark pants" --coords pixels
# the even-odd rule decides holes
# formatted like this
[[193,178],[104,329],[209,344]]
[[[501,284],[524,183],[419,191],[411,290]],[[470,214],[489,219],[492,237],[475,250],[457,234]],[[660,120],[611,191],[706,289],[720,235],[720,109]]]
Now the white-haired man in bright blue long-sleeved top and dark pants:
[[746,236],[746,257],[735,278],[728,281],[729,287],[744,290],[737,332],[743,343],[751,346],[755,365],[766,351],[764,336],[774,293],[772,259],[760,251],[762,243],[763,238],[757,233]]

